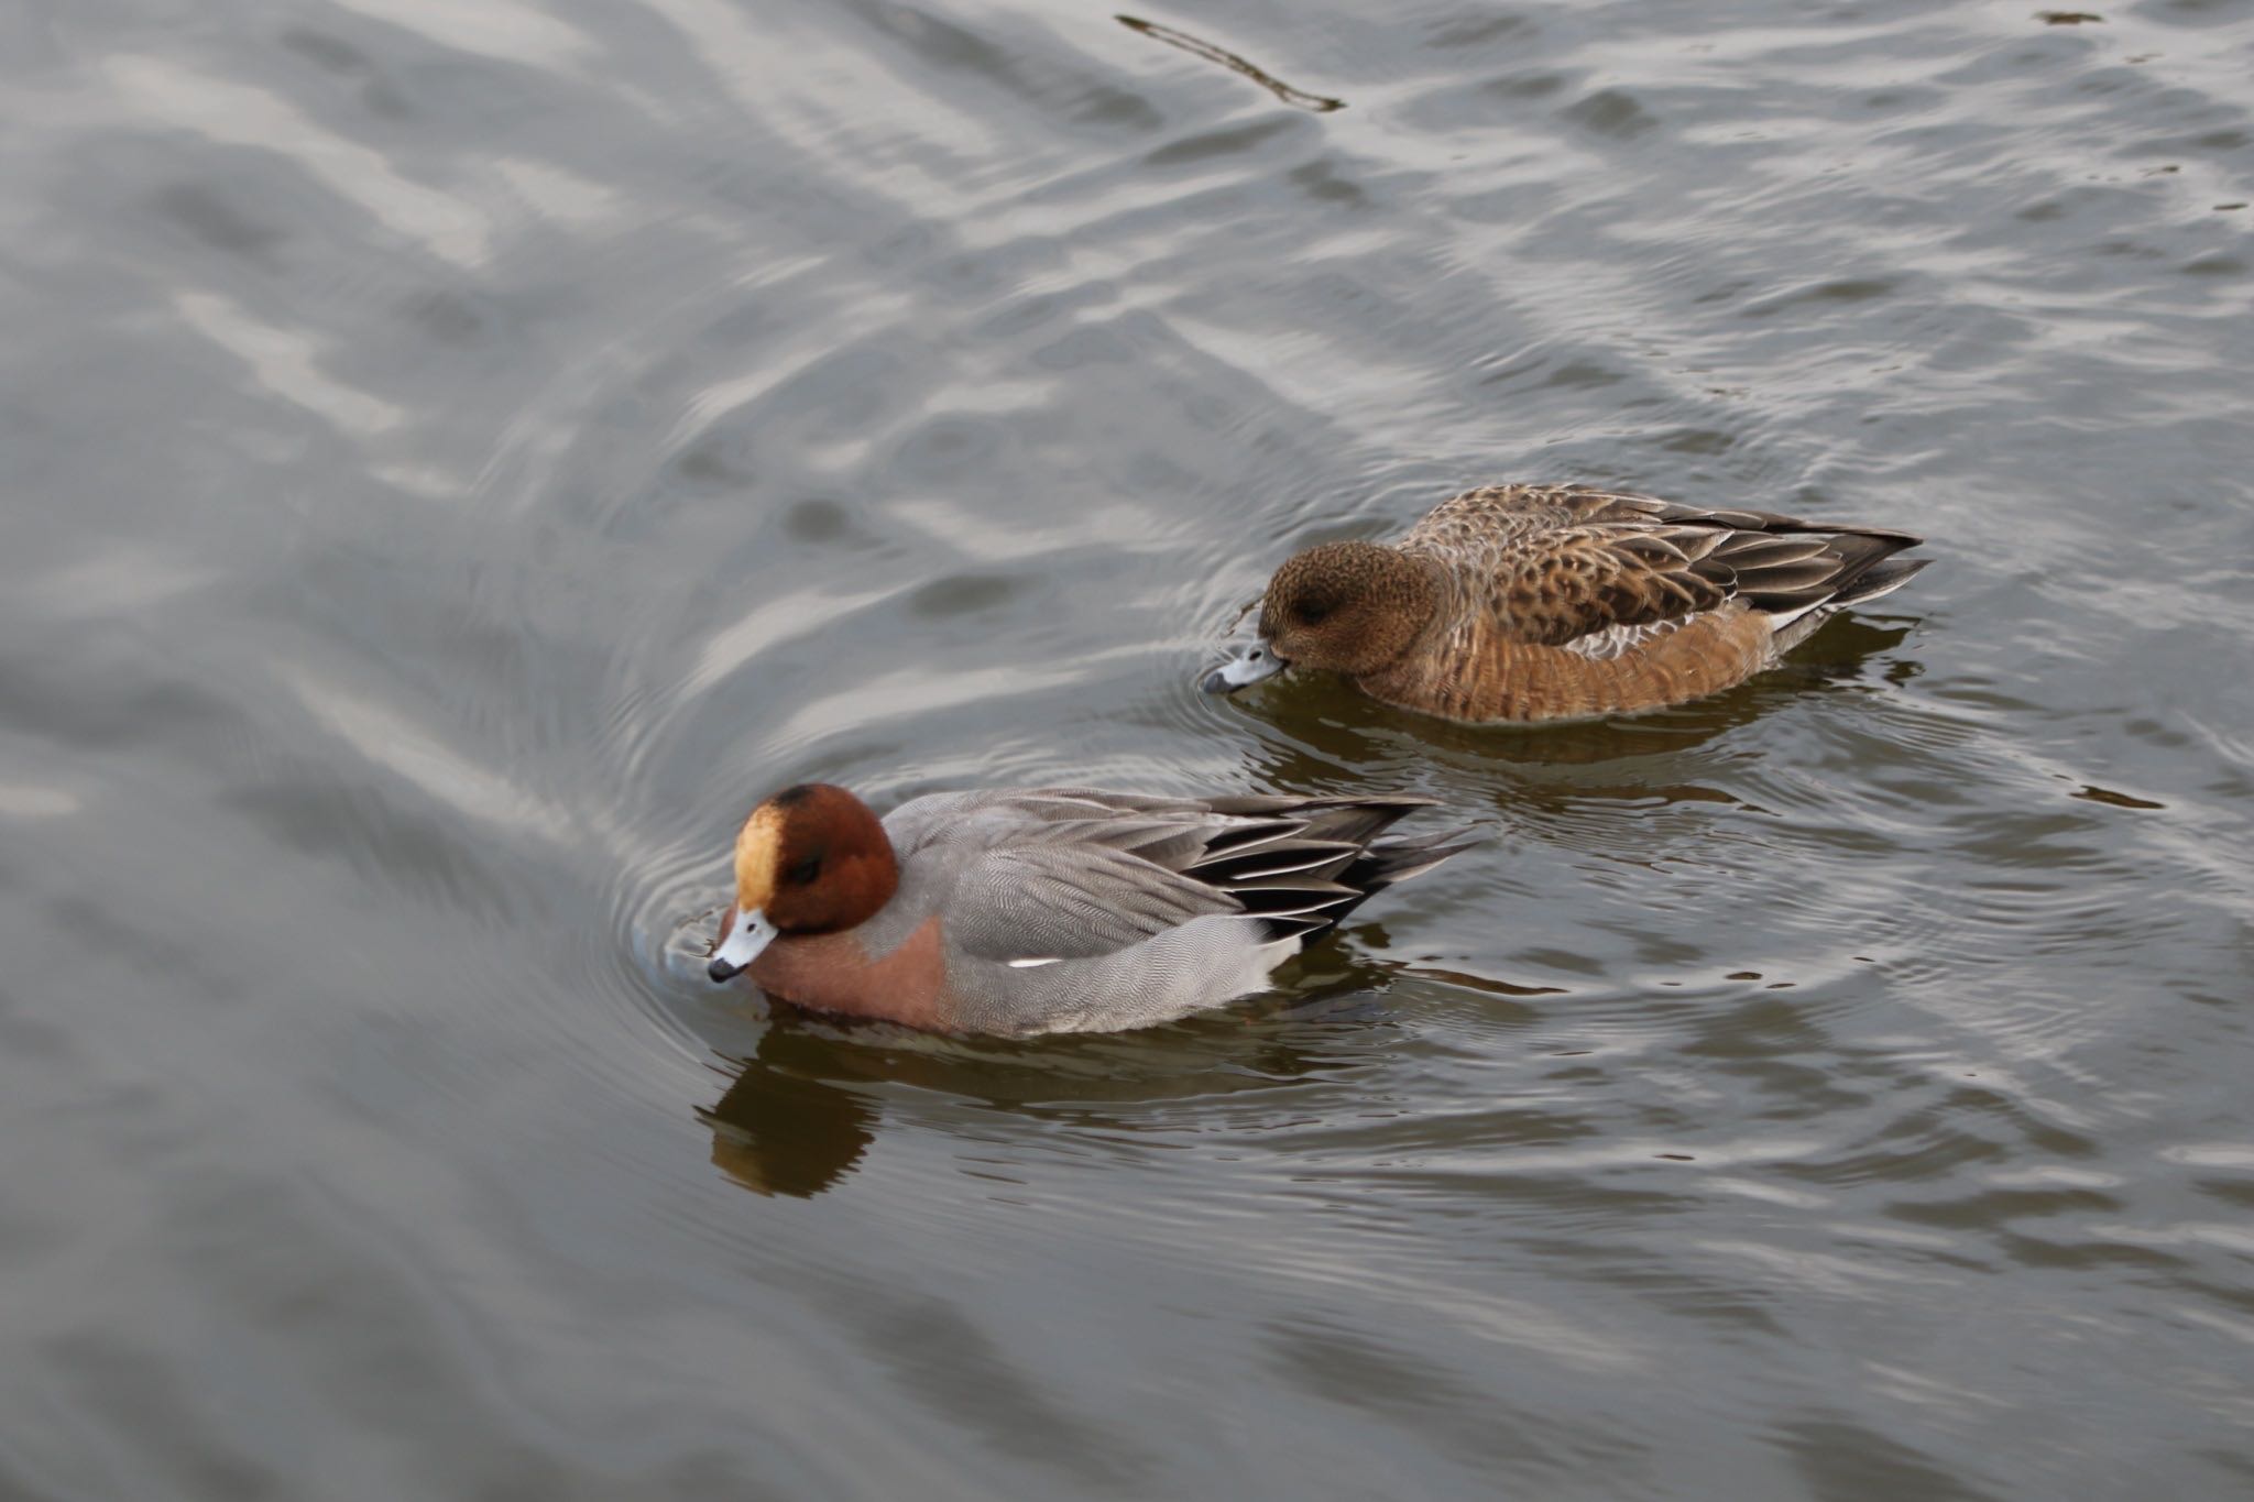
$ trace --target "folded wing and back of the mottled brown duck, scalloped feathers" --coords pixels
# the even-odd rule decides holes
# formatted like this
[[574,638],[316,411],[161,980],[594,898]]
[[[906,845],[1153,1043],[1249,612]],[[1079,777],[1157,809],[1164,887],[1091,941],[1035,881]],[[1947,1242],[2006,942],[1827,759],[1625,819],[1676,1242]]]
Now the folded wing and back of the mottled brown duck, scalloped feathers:
[[1587,486],[1497,486],[1438,507],[1402,547],[1447,558],[1506,640],[1612,658],[1742,601],[1783,628],[1898,588],[1923,538]]

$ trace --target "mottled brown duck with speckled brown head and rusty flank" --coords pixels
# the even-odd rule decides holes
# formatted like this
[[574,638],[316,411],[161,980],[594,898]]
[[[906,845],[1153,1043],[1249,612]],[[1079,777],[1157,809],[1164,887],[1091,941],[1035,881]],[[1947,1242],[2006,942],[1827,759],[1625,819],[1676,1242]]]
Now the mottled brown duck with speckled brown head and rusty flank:
[[1204,676],[1287,669],[1461,723],[1666,709],[1776,667],[1848,606],[1909,583],[1925,538],[1587,484],[1463,491],[1397,543],[1285,558],[1258,640]]

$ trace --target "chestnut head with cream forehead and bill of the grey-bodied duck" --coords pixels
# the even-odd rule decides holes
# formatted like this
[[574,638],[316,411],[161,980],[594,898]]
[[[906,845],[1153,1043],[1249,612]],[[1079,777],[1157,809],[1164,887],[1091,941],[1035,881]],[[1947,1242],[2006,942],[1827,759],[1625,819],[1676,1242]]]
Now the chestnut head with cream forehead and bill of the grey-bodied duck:
[[893,901],[899,865],[884,824],[825,781],[775,793],[735,835],[735,908],[712,948],[712,980],[733,980],[780,935],[857,928]]

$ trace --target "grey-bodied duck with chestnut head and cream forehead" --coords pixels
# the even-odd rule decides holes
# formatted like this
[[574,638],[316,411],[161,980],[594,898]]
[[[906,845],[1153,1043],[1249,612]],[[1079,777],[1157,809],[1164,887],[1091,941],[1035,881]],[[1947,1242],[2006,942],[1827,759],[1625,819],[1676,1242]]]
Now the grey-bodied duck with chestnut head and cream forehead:
[[924,1031],[1122,1031],[1262,991],[1301,946],[1467,831],[1429,797],[931,793],[879,820],[834,784],[760,802],[708,975]]

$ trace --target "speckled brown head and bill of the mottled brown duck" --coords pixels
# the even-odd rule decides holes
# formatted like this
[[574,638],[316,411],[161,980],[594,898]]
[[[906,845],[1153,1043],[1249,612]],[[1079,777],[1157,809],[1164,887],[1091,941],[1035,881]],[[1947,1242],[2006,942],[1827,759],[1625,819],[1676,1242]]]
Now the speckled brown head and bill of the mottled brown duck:
[[1379,543],[1321,543],[1285,558],[1260,599],[1260,640],[1206,673],[1206,694],[1235,694],[1287,667],[1361,678],[1418,640],[1438,606],[1438,579]]

